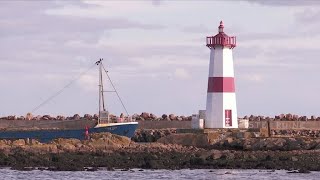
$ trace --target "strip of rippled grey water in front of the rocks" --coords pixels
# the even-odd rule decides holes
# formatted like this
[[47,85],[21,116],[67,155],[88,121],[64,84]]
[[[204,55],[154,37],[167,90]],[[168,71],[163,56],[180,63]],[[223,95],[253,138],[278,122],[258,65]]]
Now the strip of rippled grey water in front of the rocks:
[[105,171],[99,170],[94,172],[52,172],[52,171],[15,171],[10,169],[0,169],[0,179],[67,179],[67,180],[101,180],[101,179],[124,179],[124,180],[141,180],[141,179],[320,179],[320,172],[311,172],[308,174],[287,173],[285,170],[143,170],[133,169],[130,171]]

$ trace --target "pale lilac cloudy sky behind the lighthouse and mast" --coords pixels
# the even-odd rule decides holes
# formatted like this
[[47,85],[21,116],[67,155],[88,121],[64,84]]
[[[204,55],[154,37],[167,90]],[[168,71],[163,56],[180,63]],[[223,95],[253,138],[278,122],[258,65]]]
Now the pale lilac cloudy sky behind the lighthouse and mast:
[[[129,114],[197,113],[206,108],[205,38],[221,20],[237,36],[239,117],[320,116],[316,0],[1,0],[0,116],[97,113],[97,67],[33,110],[99,58]],[[106,104],[124,112],[115,93]]]

